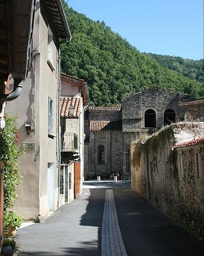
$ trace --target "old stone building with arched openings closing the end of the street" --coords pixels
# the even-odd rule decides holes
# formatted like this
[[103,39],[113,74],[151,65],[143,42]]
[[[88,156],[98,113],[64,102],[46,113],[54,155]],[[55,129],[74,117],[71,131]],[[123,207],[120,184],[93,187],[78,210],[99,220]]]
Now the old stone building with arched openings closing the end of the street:
[[188,95],[163,87],[126,97],[121,108],[90,107],[85,113],[84,177],[108,178],[118,171],[131,179],[130,143],[162,126],[184,120],[179,102]]

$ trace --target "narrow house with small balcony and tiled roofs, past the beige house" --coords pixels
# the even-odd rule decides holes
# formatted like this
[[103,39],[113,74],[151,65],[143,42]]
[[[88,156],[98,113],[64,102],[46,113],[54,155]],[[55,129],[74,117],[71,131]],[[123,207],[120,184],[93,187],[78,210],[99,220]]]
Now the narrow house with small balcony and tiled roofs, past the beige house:
[[[88,103],[87,83],[79,78],[61,74],[60,136],[61,163],[65,168],[65,202],[82,193],[84,180],[84,108]],[[70,113],[70,106],[73,114]],[[75,170],[80,165],[79,177]],[[77,167],[78,168],[78,167]],[[79,182],[79,191],[76,183]],[[67,184],[69,183],[69,186]]]

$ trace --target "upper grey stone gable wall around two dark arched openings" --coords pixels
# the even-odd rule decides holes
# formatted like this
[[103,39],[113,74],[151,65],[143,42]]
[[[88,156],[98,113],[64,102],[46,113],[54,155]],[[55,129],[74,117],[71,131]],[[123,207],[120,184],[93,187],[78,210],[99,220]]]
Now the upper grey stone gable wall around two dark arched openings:
[[156,113],[156,127],[164,125],[164,112],[172,109],[175,112],[175,122],[184,119],[184,111],[179,102],[190,100],[185,94],[167,90],[163,87],[150,88],[143,93],[136,93],[122,102],[122,130],[131,131],[145,127],[144,114],[147,109]]

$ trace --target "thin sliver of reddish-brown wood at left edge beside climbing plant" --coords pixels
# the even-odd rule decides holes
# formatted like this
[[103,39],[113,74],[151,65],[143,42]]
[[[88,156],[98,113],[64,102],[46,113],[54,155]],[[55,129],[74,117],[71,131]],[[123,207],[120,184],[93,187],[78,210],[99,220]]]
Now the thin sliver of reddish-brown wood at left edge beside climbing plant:
[[4,231],[4,187],[3,187],[3,162],[0,162],[0,248],[3,245]]

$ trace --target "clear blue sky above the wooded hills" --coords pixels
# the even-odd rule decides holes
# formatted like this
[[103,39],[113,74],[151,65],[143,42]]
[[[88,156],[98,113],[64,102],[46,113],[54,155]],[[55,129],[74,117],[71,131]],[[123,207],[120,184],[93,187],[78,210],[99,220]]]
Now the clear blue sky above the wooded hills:
[[69,0],[67,4],[92,20],[104,20],[140,52],[203,58],[203,0]]

